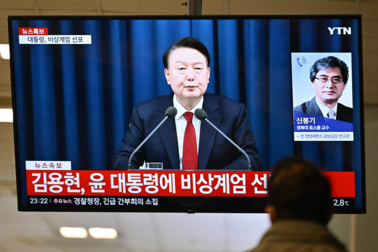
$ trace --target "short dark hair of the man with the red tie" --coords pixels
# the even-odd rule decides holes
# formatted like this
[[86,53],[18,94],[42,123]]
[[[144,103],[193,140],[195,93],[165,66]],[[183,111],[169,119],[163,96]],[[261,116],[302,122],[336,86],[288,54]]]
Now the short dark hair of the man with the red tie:
[[210,54],[207,50],[206,46],[194,37],[183,37],[179,41],[177,41],[173,46],[168,48],[165,53],[163,54],[163,64],[164,68],[168,69],[169,67],[169,56],[173,52],[173,50],[180,48],[180,47],[187,47],[191,49],[195,49],[200,52],[206,59],[207,67],[210,65]]

